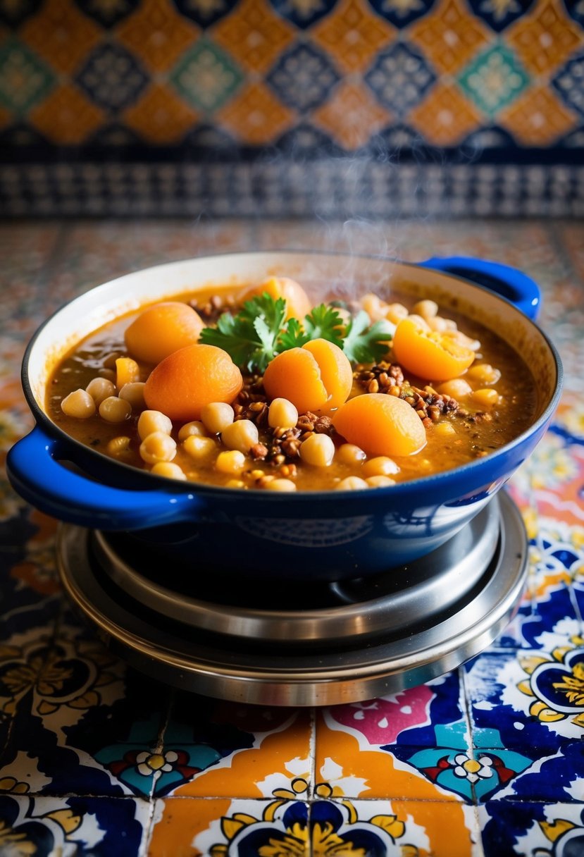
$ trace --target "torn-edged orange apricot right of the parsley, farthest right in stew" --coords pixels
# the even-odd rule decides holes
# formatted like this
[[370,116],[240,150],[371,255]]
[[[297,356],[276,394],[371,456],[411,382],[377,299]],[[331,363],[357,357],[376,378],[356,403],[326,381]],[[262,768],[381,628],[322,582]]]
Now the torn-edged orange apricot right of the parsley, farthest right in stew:
[[396,362],[427,381],[451,381],[474,361],[474,351],[452,337],[424,330],[406,318],[396,327],[391,342]]

